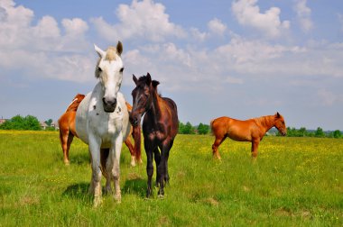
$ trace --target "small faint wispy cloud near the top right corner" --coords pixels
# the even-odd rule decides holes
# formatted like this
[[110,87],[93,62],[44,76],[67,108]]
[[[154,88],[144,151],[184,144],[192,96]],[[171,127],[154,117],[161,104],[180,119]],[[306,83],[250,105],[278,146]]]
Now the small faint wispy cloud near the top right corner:
[[306,5],[307,0],[297,0],[294,10],[298,16],[303,32],[309,32],[313,28],[311,21],[311,9]]

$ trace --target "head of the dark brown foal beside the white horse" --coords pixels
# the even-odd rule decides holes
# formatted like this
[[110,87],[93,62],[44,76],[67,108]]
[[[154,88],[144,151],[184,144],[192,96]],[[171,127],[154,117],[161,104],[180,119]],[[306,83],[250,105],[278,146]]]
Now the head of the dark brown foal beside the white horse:
[[149,73],[138,79],[133,75],[135,88],[132,91],[134,104],[130,114],[130,123],[133,126],[141,122],[142,115],[147,112],[153,104],[153,93],[160,82],[152,80]]

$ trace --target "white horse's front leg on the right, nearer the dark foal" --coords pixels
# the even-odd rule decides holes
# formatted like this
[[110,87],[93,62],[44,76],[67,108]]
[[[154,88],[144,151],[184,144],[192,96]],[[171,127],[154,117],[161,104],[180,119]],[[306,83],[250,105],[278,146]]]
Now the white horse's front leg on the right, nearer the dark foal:
[[[113,165],[111,166],[110,172],[111,176],[114,179],[115,183],[115,195],[114,198],[115,200],[120,203],[122,199],[121,191],[120,191],[120,154],[122,151],[122,146],[123,146],[123,133],[119,132],[118,136],[116,137],[114,141],[114,146],[111,149],[111,158],[112,158],[112,163]],[[109,167],[108,167],[109,168]]]

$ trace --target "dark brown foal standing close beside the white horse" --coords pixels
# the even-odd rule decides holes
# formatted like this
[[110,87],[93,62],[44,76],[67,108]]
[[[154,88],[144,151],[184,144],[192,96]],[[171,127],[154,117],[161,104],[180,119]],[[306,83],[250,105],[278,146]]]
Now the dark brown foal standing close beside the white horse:
[[[147,76],[137,79],[133,76],[135,88],[130,122],[136,126],[143,120],[144,148],[147,157],[146,173],[148,187],[146,196],[152,195],[153,156],[156,163],[156,186],[160,186],[158,195],[164,195],[164,184],[169,181],[168,158],[172,143],[178,133],[179,120],[176,104],[172,99],[162,97],[157,93],[160,84],[148,73]],[[160,149],[160,150],[159,150]]]

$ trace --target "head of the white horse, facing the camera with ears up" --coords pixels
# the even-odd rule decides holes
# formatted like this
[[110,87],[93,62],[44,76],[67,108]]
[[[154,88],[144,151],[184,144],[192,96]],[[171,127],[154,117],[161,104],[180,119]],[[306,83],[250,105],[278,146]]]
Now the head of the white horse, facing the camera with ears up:
[[102,102],[104,111],[112,113],[116,109],[116,95],[123,80],[123,61],[121,54],[123,45],[120,41],[115,47],[109,47],[106,51],[94,45],[100,59],[97,60],[96,77],[99,78],[104,96]]

